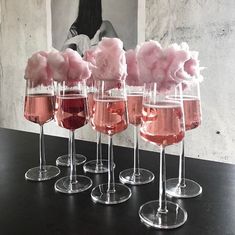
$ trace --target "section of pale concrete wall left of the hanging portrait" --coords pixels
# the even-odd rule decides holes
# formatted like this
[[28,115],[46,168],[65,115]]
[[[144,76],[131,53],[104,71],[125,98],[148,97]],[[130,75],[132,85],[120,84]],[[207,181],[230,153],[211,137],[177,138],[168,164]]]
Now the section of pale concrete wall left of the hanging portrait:
[[24,68],[51,44],[48,1],[1,0],[0,12],[0,126],[36,131],[23,118]]

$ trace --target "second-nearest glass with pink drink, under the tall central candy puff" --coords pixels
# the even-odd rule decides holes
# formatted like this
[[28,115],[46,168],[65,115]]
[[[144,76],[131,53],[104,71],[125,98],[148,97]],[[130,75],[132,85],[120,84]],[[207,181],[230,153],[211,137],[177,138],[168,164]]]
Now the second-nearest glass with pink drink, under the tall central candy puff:
[[94,94],[95,129],[108,135],[108,183],[96,186],[91,197],[95,202],[103,204],[118,204],[128,200],[131,190],[114,180],[113,144],[114,134],[127,128],[125,81],[97,80],[97,91]]

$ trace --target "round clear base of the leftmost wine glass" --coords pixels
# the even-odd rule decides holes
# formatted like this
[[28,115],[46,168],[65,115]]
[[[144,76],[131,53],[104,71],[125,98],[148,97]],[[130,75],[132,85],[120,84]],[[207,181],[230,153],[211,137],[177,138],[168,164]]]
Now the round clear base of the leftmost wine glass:
[[46,165],[44,168],[45,171],[41,171],[40,167],[29,169],[25,173],[25,179],[32,181],[45,181],[53,179],[60,174],[60,169],[56,166]]

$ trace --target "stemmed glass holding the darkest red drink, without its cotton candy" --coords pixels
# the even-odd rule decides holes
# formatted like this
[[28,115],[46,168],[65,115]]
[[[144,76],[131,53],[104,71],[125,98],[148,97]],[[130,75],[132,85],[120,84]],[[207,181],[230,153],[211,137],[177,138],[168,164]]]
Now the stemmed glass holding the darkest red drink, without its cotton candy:
[[87,94],[85,81],[68,80],[57,83],[55,120],[69,130],[70,175],[56,181],[55,190],[72,194],[85,191],[92,185],[90,178],[76,175],[74,162],[74,131],[87,123]]

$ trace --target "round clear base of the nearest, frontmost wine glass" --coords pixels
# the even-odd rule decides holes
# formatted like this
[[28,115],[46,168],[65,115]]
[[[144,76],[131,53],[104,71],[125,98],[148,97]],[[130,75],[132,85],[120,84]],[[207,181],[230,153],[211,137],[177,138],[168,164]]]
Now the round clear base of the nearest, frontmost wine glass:
[[158,212],[159,201],[150,201],[139,209],[141,222],[148,227],[173,229],[187,220],[187,212],[178,204],[167,201],[167,212]]

